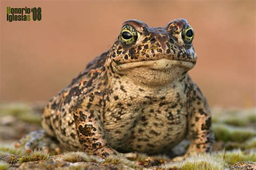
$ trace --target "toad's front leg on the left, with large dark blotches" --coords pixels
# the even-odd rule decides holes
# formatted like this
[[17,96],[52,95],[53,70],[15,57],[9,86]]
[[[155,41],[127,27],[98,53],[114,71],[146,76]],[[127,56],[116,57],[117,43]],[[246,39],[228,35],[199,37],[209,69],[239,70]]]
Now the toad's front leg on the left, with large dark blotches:
[[84,151],[107,157],[117,152],[104,139],[104,130],[98,115],[98,111],[86,108],[78,108],[73,111],[79,143]]

